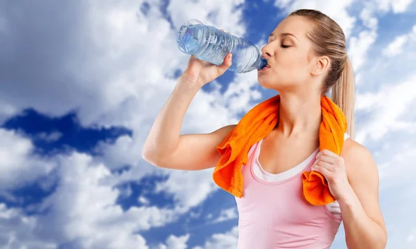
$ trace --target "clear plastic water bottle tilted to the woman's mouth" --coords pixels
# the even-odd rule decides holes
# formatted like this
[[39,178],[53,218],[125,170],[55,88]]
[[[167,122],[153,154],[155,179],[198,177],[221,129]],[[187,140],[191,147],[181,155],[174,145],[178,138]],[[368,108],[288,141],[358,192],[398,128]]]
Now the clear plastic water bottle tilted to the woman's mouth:
[[235,73],[261,69],[267,64],[259,48],[248,40],[204,25],[196,19],[180,27],[177,46],[188,55],[216,65],[223,64],[225,55],[232,53],[232,64],[228,70]]

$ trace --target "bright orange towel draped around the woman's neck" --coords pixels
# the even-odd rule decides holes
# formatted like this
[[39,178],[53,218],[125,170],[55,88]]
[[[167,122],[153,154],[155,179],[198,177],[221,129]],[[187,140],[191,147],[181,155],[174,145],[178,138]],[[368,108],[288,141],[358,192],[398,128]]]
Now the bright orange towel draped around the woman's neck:
[[[221,155],[213,173],[214,182],[223,190],[241,198],[243,176],[241,167],[247,164],[252,145],[265,138],[279,120],[280,96],[276,95],[248,111],[239,124],[216,149]],[[319,130],[320,151],[329,149],[340,155],[344,144],[347,121],[343,111],[327,96],[322,96],[322,123]],[[318,172],[302,173],[303,192],[312,205],[326,205],[335,201],[327,180]]]

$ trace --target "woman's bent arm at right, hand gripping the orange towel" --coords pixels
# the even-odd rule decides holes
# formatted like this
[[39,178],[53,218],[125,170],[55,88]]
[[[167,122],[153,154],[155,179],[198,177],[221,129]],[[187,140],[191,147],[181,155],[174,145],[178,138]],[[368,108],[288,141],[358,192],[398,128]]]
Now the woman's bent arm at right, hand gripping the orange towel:
[[365,147],[346,140],[341,156],[323,150],[313,170],[327,178],[340,205],[349,249],[385,248],[387,232],[379,205],[379,172]]

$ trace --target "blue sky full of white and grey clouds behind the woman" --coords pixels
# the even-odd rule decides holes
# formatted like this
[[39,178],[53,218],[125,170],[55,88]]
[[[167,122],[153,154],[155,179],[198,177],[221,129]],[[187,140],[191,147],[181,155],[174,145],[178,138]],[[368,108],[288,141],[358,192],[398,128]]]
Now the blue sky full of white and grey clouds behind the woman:
[[[388,248],[416,248],[416,1],[0,1],[0,247],[235,248],[233,196],[212,169],[141,158],[188,56],[189,19],[259,48],[289,12],[343,27],[356,73],[358,142],[380,172]],[[275,95],[225,73],[191,103],[183,133],[235,124]],[[346,248],[343,227],[332,248]]]

